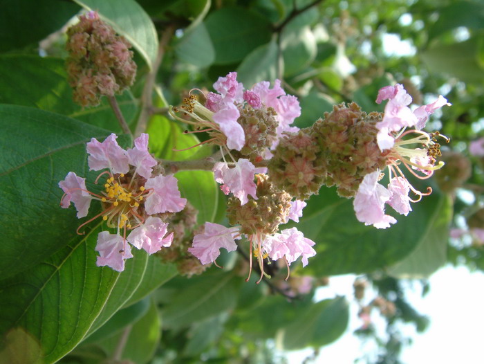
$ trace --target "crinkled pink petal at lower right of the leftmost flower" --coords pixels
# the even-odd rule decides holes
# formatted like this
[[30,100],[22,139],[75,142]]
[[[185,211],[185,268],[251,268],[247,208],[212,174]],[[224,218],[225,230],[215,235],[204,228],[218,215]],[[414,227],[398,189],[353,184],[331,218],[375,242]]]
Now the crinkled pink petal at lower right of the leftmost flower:
[[163,246],[170,246],[173,241],[173,233],[167,237],[168,224],[159,217],[148,217],[145,224],[131,231],[127,241],[138,249],[145,249],[148,254],[160,251]]

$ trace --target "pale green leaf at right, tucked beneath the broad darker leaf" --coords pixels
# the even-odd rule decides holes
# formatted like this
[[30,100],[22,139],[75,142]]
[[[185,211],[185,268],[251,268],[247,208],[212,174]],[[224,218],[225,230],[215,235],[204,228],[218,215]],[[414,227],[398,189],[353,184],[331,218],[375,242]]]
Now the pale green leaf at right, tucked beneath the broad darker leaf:
[[402,279],[424,279],[447,262],[447,240],[452,219],[450,197],[440,200],[438,210],[440,214],[431,221],[427,235],[422,237],[410,255],[387,269],[389,275]]

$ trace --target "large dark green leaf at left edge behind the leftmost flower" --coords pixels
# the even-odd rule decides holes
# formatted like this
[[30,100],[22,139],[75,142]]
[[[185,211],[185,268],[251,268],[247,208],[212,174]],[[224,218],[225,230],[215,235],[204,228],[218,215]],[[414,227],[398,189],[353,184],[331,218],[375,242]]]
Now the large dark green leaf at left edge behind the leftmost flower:
[[75,209],[60,208],[57,183],[88,176],[86,143],[109,131],[55,113],[0,105],[0,276],[46,259],[76,236]]

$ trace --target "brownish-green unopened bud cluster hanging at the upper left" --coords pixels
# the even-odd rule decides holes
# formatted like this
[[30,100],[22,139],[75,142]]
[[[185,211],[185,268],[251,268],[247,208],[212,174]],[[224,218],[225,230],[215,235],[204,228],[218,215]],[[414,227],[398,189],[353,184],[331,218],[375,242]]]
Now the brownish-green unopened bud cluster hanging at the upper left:
[[100,95],[113,96],[133,84],[136,64],[131,44],[101,21],[97,12],[80,16],[67,30],[67,71],[74,101],[95,106]]

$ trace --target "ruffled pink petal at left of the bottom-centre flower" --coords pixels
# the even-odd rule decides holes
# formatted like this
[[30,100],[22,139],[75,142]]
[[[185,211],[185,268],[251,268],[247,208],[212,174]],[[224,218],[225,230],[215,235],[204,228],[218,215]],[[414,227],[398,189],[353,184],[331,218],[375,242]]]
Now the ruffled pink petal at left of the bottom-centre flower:
[[216,260],[220,255],[220,249],[234,251],[237,244],[234,239],[238,233],[238,228],[226,228],[225,226],[205,223],[205,230],[202,234],[195,235],[193,245],[188,251],[195,255],[202,264],[209,264]]

